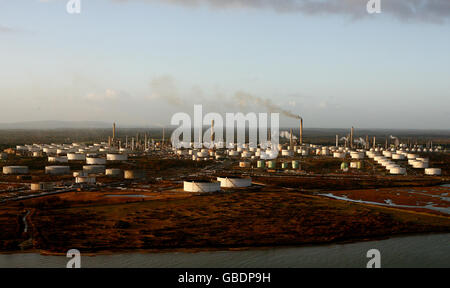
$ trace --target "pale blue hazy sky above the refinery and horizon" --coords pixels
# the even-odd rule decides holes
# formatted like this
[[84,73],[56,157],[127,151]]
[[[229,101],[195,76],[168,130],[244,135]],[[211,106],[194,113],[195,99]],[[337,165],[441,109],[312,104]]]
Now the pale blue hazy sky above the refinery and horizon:
[[0,122],[160,127],[203,104],[275,106],[305,128],[450,129],[447,0],[381,0],[380,14],[367,0],[67,2],[0,0]]

